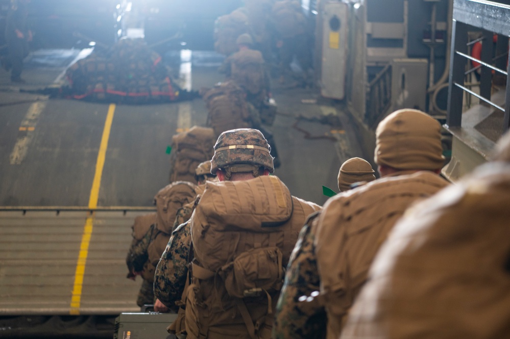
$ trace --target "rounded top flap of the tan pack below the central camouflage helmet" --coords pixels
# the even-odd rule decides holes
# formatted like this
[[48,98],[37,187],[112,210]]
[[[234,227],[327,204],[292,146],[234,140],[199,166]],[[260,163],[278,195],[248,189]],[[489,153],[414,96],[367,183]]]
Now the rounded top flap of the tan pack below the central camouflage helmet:
[[197,213],[207,216],[203,219],[218,231],[272,231],[271,227],[288,221],[292,212],[290,192],[276,176],[207,182],[197,206]]

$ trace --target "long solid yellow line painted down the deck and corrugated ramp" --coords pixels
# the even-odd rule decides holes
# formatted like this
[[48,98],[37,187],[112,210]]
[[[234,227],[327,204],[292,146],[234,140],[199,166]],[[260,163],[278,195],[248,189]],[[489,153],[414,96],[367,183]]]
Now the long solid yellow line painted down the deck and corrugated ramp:
[[[105,166],[106,150],[108,148],[108,139],[110,138],[110,131],[113,121],[113,113],[115,112],[115,105],[112,103],[108,108],[106,116],[105,127],[103,129],[103,137],[101,138],[101,145],[99,147],[98,160],[95,163],[95,175],[90,190],[90,198],[88,201],[89,208],[98,207],[99,189],[101,187],[101,177],[103,176],[103,168]],[[79,315],[82,297],[83,277],[85,275],[85,265],[87,264],[88,246],[90,238],[92,237],[92,229],[94,224],[94,213],[87,217],[85,226],[83,227],[82,242],[80,245],[80,254],[78,262],[76,263],[75,283],[72,289],[72,296],[70,302],[69,314]]]

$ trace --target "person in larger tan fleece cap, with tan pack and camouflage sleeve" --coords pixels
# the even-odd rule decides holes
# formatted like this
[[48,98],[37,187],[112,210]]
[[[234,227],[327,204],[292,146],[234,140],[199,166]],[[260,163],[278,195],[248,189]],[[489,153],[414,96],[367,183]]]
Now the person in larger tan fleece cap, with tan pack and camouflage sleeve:
[[[323,310],[327,326],[321,329],[326,329],[328,339],[338,337],[343,317],[386,234],[413,201],[448,185],[435,173],[444,161],[440,129],[436,120],[417,110],[397,111],[381,121],[374,160],[381,169],[395,172],[387,170],[384,178],[330,198],[309,230],[305,226],[302,236],[308,232],[310,244],[298,243],[285,281],[287,289],[294,281],[301,290],[294,298],[292,290],[286,291],[279,301],[277,337],[324,337],[324,332],[311,333],[319,322],[308,319]],[[311,293],[317,285],[320,294]],[[310,296],[306,302],[300,302],[303,294]]]

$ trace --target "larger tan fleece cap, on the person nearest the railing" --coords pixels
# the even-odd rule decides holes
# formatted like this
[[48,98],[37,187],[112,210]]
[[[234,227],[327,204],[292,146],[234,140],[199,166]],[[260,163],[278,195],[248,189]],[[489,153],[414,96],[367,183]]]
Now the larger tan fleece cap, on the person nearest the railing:
[[441,125],[422,111],[403,109],[377,126],[374,161],[401,170],[436,170],[443,166]]

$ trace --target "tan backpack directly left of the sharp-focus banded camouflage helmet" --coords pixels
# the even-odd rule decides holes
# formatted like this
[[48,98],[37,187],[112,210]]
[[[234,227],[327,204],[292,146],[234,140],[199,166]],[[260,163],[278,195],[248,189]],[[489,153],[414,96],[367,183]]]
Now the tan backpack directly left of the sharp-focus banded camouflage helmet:
[[197,183],[195,169],[214,155],[216,136],[212,128],[193,126],[172,137],[169,181]]

